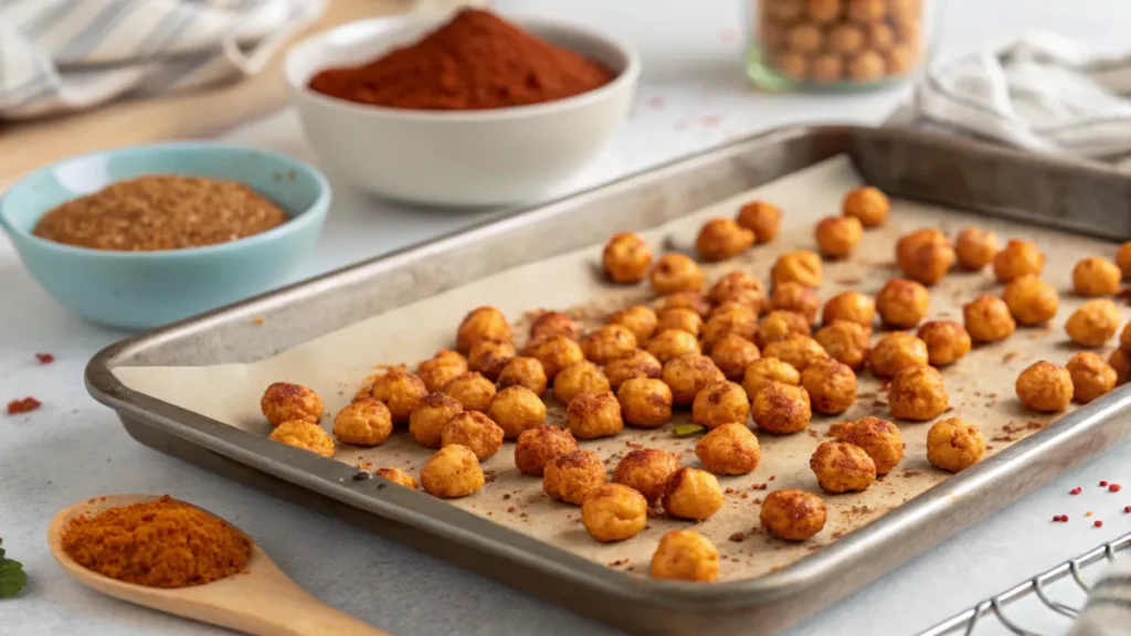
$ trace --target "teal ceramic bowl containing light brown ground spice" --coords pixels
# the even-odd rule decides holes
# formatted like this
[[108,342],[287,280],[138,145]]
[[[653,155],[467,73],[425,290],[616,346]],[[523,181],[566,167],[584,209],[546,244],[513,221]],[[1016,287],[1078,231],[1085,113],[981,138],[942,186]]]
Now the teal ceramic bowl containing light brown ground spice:
[[[230,243],[145,252],[76,248],[32,234],[40,217],[63,201],[145,174],[240,181],[291,221]],[[256,148],[187,141],[106,151],[40,169],[0,198],[0,226],[27,270],[61,304],[95,323],[140,329],[280,284],[314,247],[329,204],[326,178],[303,162]]]

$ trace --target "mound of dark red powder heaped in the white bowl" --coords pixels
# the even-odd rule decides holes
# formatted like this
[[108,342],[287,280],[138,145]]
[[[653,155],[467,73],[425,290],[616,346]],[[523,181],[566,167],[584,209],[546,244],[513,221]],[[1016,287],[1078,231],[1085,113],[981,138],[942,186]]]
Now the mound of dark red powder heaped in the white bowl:
[[484,110],[564,100],[613,72],[478,9],[464,9],[415,44],[362,66],[320,71],[314,92],[409,110]]

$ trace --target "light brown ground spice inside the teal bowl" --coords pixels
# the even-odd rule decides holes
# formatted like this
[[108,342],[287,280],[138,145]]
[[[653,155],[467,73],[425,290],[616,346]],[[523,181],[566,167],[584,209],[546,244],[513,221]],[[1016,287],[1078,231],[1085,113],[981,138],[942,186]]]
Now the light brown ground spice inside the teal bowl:
[[44,214],[33,234],[100,250],[176,250],[243,239],[288,220],[244,183],[155,174],[69,200]]

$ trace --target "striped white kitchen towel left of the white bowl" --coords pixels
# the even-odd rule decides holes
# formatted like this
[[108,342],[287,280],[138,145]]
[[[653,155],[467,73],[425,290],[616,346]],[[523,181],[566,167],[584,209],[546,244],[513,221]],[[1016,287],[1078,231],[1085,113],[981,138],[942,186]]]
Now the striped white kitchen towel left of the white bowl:
[[323,0],[0,0],[0,119],[259,71]]

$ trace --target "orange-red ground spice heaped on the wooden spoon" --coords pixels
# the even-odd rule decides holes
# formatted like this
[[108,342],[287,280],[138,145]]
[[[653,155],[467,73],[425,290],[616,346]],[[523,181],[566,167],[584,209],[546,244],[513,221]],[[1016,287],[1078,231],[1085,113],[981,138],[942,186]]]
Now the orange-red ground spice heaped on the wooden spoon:
[[251,541],[204,510],[162,497],[76,518],[62,535],[75,562],[148,587],[188,587],[243,571]]

